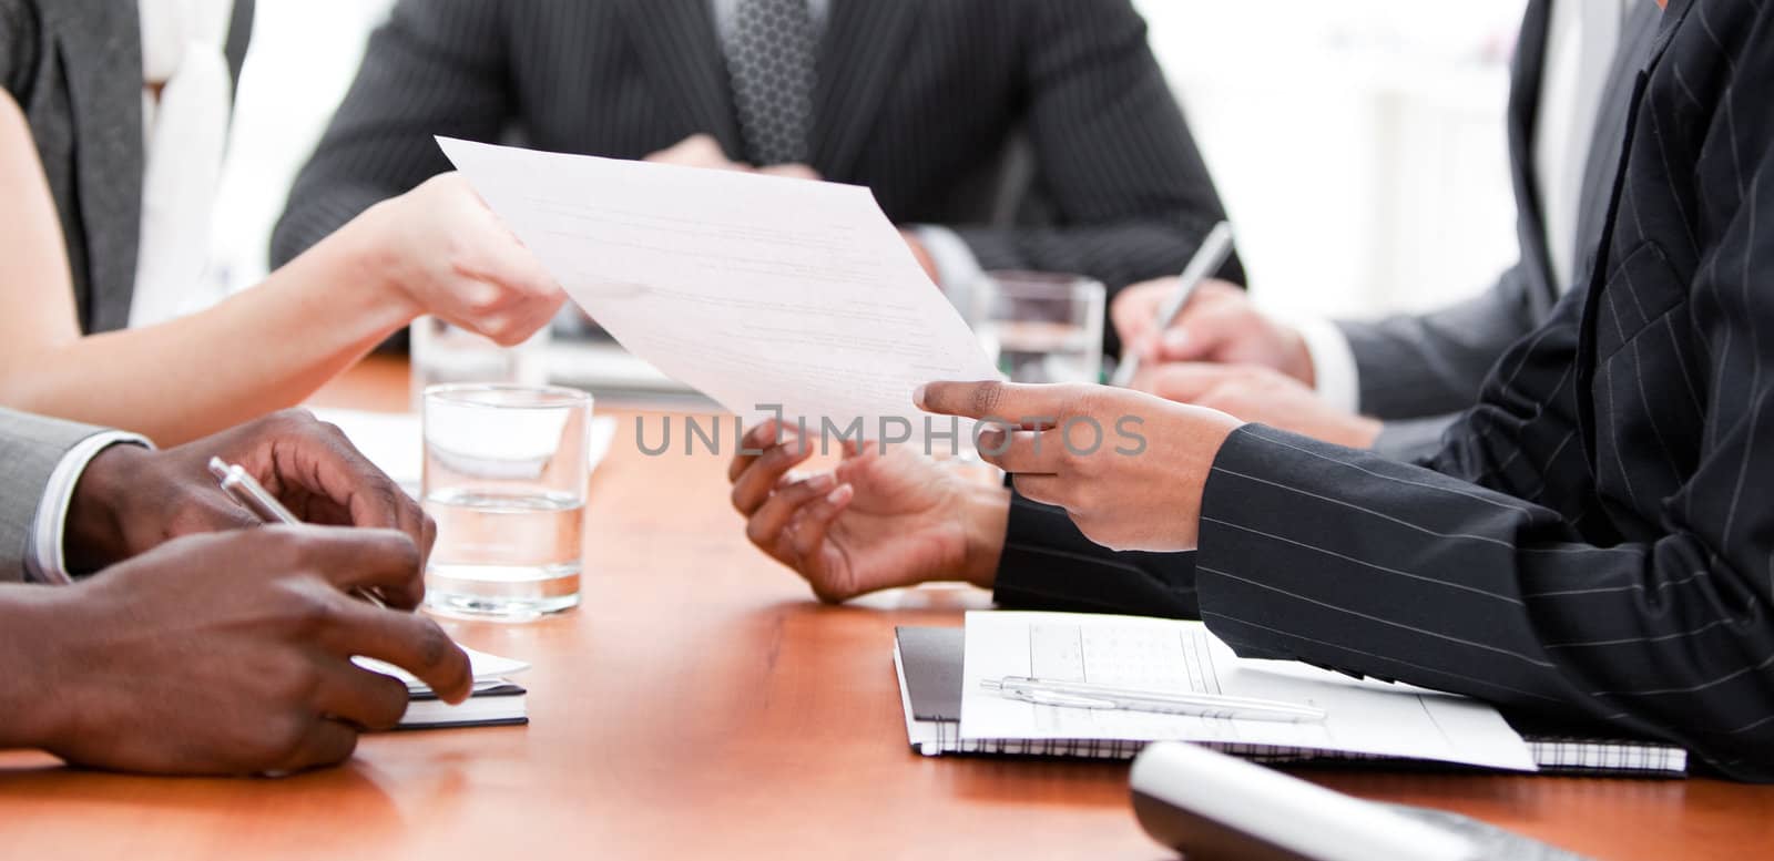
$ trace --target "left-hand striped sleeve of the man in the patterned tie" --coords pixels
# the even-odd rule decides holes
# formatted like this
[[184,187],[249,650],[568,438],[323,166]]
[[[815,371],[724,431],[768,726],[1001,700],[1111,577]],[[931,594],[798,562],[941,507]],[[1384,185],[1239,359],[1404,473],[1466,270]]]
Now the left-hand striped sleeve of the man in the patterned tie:
[[401,0],[271,234],[282,266],[371,206],[451,170],[436,135],[497,140],[509,112],[504,12],[486,0]]

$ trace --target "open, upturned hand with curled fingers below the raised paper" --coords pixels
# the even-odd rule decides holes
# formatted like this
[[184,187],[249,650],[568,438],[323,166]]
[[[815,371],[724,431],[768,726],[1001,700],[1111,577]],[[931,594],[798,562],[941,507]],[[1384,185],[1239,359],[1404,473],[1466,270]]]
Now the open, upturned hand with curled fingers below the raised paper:
[[789,473],[818,446],[766,422],[745,436],[727,478],[745,535],[821,601],[938,579],[992,586],[1009,493],[967,484],[908,450],[882,455],[848,441],[837,469]]

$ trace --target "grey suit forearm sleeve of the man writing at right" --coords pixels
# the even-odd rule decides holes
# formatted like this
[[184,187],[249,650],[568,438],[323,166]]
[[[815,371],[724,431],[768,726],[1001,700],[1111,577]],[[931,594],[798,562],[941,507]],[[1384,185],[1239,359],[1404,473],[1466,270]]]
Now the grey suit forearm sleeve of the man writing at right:
[[[1338,322],[1355,353],[1361,411],[1407,420],[1471,407],[1503,353],[1538,326],[1527,291],[1529,280],[1517,264],[1490,291],[1448,308]],[[1433,436],[1440,438],[1442,429],[1446,423]],[[1426,432],[1400,429],[1398,436],[1414,445]]]

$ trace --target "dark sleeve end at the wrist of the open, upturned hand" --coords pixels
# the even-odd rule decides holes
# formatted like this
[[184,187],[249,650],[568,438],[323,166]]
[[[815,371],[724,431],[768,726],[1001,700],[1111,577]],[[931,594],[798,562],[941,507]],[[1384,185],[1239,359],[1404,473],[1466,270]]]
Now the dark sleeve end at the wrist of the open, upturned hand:
[[1192,553],[1111,553],[1064,508],[1011,496],[993,599],[1006,608],[1196,618]]

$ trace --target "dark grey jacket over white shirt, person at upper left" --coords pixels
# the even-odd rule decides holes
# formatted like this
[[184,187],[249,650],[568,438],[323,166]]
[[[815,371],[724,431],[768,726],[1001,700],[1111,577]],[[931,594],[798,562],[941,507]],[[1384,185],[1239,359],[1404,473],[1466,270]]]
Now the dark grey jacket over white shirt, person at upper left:
[[[254,0],[234,0],[239,80]],[[142,32],[135,2],[0,0],[0,87],[25,110],[62,218],[83,331],[130,324],[142,239]]]

